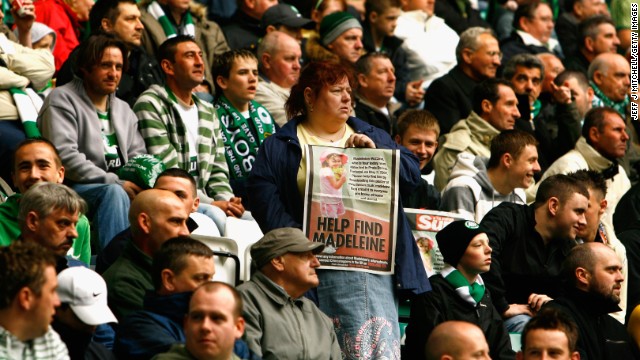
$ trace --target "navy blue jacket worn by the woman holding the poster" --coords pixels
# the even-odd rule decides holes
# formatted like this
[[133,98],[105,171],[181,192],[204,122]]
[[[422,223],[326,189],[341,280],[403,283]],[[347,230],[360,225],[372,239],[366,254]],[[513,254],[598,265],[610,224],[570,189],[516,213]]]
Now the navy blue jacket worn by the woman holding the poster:
[[[258,152],[249,176],[248,193],[251,214],[264,233],[282,227],[302,228],[304,206],[298,192],[296,177],[302,148],[296,129],[301,117],[291,119],[279,132],[268,137]],[[400,149],[400,194],[408,196],[420,182],[418,159],[397,145],[383,130],[350,117],[347,125],[356,133],[367,135],[378,148]],[[420,294],[431,290],[411,234],[402,205],[398,212],[395,278],[398,290]]]

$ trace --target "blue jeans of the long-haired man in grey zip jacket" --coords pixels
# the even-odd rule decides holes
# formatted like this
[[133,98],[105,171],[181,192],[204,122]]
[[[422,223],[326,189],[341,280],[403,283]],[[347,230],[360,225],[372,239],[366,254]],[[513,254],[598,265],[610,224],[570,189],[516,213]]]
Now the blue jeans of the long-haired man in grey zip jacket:
[[118,184],[75,184],[73,190],[89,205],[91,221],[98,223],[101,252],[111,239],[129,227],[129,196]]

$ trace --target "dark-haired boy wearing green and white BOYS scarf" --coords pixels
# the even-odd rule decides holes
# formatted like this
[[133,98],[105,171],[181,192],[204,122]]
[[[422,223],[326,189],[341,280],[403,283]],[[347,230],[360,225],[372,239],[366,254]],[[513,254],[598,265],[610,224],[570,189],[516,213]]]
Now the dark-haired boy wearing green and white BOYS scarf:
[[[276,131],[269,111],[253,99],[258,88],[258,61],[248,50],[231,50],[216,57],[213,66],[215,107],[220,120],[227,165],[234,194],[247,206],[246,180],[258,148]],[[240,217],[242,212],[234,213]]]

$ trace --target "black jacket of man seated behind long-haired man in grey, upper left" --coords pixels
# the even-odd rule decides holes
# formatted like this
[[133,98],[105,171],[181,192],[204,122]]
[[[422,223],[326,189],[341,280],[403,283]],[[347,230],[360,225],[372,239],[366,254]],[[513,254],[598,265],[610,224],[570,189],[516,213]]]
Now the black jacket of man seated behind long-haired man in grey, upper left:
[[[76,61],[78,49],[73,49],[67,61],[62,64],[56,78],[56,86],[60,87],[73,80],[78,74]],[[153,84],[162,84],[164,75],[158,62],[149,56],[142,48],[135,48],[129,54],[129,67],[122,73],[120,84],[116,90],[118,99],[126,101],[133,107],[140,94]]]

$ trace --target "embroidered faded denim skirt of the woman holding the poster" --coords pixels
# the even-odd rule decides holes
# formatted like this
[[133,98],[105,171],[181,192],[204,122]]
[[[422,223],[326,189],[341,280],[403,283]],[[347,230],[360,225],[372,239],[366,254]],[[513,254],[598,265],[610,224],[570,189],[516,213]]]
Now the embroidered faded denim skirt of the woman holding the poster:
[[344,359],[400,359],[393,276],[318,270],[318,302],[331,320]]

